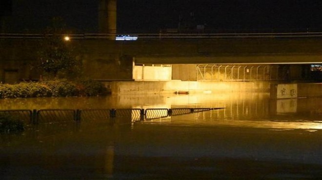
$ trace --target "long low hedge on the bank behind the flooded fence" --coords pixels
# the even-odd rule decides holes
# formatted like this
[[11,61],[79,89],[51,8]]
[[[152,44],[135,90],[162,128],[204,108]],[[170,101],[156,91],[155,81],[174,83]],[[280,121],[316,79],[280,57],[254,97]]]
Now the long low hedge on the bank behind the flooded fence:
[[98,81],[51,80],[0,84],[0,98],[66,97],[106,95],[108,90]]

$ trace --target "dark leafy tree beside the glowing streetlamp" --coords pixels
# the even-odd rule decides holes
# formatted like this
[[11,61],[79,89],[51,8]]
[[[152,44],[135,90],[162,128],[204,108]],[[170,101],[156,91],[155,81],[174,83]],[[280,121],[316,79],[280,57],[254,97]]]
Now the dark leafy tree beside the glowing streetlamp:
[[47,78],[72,78],[80,74],[81,59],[71,42],[64,40],[67,31],[61,18],[53,18],[52,27],[46,29],[33,66]]

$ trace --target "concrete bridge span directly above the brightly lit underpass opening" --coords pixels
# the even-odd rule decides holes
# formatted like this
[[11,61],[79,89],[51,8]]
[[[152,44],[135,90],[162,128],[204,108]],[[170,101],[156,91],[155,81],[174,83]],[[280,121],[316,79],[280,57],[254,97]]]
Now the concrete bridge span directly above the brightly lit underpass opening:
[[[139,48],[138,48],[139,47]],[[139,64],[321,63],[321,37],[230,37],[123,42]]]

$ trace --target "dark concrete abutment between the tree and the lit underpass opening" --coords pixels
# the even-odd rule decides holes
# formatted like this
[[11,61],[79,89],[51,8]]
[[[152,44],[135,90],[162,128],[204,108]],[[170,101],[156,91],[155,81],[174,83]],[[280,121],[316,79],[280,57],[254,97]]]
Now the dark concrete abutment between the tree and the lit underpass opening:
[[133,56],[122,54],[121,44],[106,39],[78,43],[84,74],[93,79],[131,80]]

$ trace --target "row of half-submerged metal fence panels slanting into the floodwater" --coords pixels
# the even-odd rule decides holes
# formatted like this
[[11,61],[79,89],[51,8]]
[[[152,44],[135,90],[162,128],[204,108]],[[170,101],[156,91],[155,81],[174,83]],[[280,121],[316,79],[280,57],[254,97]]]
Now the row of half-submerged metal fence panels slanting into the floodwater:
[[120,109],[17,109],[0,110],[0,115],[19,118],[26,124],[46,124],[67,121],[96,121],[118,119],[129,122],[152,120],[221,108],[120,108]]

